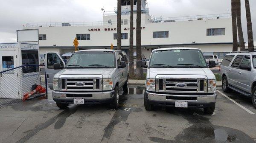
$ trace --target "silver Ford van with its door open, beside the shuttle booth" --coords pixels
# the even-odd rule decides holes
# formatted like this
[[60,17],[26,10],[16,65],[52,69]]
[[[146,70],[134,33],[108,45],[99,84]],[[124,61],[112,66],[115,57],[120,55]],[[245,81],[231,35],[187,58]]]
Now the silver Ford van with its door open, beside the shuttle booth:
[[128,59],[121,50],[79,50],[67,64],[58,53],[47,53],[48,85],[61,109],[105,102],[117,108],[119,95],[128,93],[128,73]]

